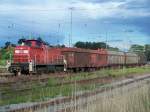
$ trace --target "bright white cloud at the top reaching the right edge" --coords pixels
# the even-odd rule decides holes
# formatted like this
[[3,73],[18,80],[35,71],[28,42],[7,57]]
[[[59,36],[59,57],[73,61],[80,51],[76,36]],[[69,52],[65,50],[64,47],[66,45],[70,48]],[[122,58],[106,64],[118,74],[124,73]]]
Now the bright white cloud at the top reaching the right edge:
[[[81,9],[79,13],[88,16],[92,19],[99,18],[130,18],[130,17],[145,17],[150,16],[150,12],[145,9],[128,9],[124,6],[128,6],[131,1],[123,2],[103,2],[103,3],[92,3],[92,2],[77,2],[74,4],[76,9]],[[141,1],[143,3],[143,1]],[[141,3],[139,2],[139,3]],[[135,2],[136,4],[136,2]],[[131,5],[131,4],[130,4]],[[134,4],[133,4],[134,5]]]

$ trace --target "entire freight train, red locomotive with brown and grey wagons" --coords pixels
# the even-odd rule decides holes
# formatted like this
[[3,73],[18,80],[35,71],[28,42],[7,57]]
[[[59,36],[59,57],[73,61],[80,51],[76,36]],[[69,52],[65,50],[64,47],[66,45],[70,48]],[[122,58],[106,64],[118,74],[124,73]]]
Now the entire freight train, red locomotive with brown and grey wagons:
[[41,73],[57,71],[88,71],[104,67],[144,65],[144,55],[80,48],[50,48],[38,40],[26,40],[16,46],[9,71]]

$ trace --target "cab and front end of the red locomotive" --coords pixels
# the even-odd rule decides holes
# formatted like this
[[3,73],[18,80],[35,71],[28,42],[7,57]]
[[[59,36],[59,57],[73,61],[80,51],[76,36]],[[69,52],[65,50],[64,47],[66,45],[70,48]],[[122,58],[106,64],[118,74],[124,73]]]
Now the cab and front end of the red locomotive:
[[[17,74],[34,72],[35,55],[43,50],[43,44],[37,40],[26,40],[14,50],[13,63],[9,71]],[[40,53],[40,52],[39,52]],[[32,65],[32,66],[31,66]]]

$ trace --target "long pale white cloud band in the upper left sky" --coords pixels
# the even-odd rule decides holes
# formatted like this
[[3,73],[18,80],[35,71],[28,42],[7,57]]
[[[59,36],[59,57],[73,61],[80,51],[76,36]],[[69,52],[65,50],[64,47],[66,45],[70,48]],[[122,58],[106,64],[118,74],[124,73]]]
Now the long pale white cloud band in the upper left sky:
[[18,20],[33,20],[39,22],[49,22],[51,20],[65,20],[69,6],[64,2],[48,2],[47,4],[30,4],[30,5],[18,5],[18,4],[0,4],[0,17],[3,15],[11,15],[17,17]]

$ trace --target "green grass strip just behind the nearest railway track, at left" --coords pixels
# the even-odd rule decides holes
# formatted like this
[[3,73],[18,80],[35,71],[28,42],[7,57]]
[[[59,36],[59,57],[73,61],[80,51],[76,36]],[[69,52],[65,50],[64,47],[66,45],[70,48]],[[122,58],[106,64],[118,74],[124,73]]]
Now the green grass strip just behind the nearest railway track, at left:
[[5,94],[0,100],[0,105],[18,104],[21,102],[37,102],[44,101],[46,99],[54,98],[57,96],[71,96],[77,91],[93,90],[94,85],[62,85],[58,87],[33,87],[31,91],[15,92],[11,91]]

